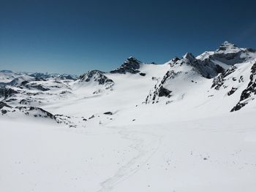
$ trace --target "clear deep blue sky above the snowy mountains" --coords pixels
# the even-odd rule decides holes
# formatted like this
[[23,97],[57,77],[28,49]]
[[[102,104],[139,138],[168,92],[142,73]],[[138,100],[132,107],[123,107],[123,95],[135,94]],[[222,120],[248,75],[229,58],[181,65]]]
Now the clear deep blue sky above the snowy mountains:
[[0,70],[109,71],[164,63],[225,40],[256,48],[256,1],[0,0]]

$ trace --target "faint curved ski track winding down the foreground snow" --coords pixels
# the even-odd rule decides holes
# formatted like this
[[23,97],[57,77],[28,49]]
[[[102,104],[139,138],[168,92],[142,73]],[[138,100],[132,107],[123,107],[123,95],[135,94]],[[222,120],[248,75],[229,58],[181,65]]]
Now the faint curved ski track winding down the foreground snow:
[[[157,152],[159,146],[161,145],[162,135],[153,134],[152,131],[145,131],[145,128],[118,128],[113,126],[106,126],[110,130],[114,130],[113,133],[100,133],[92,134],[86,131],[84,128],[62,128],[56,129],[56,131],[67,131],[76,134],[85,134],[88,136],[94,135],[108,135],[108,134],[120,134],[121,138],[128,139],[133,142],[129,147],[132,150],[137,151],[137,155],[132,157],[127,164],[118,168],[116,174],[109,177],[107,180],[100,183],[102,187],[97,192],[111,191],[118,183],[127,180],[136,172],[140,171],[140,168],[148,162],[154,153]],[[118,131],[116,131],[118,129]],[[138,131],[138,129],[143,129],[143,131]]]

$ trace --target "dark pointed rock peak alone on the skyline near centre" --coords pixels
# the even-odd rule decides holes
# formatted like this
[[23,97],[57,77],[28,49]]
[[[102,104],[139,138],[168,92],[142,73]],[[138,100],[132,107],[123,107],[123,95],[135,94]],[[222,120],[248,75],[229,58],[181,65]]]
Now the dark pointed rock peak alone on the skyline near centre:
[[124,61],[124,64],[122,64],[118,69],[115,69],[111,71],[110,73],[119,73],[119,74],[126,74],[127,72],[136,74],[140,71],[140,64],[141,62],[138,61],[136,58],[129,57],[126,61]]

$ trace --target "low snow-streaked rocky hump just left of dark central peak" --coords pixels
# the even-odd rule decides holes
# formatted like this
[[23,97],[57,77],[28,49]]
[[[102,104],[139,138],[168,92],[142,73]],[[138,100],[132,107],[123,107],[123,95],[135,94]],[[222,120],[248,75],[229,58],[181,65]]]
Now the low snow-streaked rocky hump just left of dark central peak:
[[104,72],[98,70],[92,70],[79,77],[80,82],[90,82],[91,80],[98,82],[99,85],[113,84],[113,80],[110,80],[105,76]]

